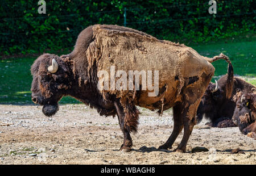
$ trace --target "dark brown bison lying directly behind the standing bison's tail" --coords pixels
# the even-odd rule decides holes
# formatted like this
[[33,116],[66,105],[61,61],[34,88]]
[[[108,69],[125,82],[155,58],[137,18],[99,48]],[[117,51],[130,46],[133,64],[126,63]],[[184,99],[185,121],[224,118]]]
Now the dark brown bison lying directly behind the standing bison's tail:
[[237,89],[243,93],[252,93],[255,86],[233,76],[232,65],[229,65],[228,74],[222,76],[216,83],[210,82],[205,91],[199,108],[197,109],[197,123],[205,118],[210,120],[208,123],[211,127],[236,127],[233,123],[232,116],[236,103],[233,101]]

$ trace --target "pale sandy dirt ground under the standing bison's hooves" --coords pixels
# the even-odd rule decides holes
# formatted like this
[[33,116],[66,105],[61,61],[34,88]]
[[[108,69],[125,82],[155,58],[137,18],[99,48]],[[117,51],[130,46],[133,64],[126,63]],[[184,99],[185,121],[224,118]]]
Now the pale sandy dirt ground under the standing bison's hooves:
[[[13,123],[0,126],[0,164],[256,164],[256,140],[238,127],[206,127],[205,120],[194,127],[186,153],[173,152],[183,132],[173,149],[158,150],[171,134],[172,111],[139,111],[133,150],[123,153],[117,117],[105,118],[83,104],[60,106],[51,118],[42,106],[0,105],[0,121]],[[209,151],[192,153],[196,146]],[[236,148],[243,153],[230,153]]]

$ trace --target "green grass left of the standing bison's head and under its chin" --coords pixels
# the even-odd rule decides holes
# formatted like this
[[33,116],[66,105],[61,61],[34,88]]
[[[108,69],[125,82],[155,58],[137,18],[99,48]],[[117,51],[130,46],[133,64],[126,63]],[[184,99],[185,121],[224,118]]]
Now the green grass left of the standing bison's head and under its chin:
[[[32,104],[31,65],[35,57],[0,60],[0,104]],[[64,97],[60,103],[79,103],[72,97]]]

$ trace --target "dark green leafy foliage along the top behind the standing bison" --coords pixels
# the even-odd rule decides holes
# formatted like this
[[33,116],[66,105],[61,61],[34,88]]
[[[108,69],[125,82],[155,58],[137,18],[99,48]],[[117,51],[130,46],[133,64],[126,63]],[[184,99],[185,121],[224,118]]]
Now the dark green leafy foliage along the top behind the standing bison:
[[217,1],[209,14],[207,1],[95,1],[46,0],[46,14],[38,1],[1,1],[0,53],[3,55],[72,50],[79,32],[92,24],[126,26],[159,39],[202,43],[243,33],[255,35],[255,1]]

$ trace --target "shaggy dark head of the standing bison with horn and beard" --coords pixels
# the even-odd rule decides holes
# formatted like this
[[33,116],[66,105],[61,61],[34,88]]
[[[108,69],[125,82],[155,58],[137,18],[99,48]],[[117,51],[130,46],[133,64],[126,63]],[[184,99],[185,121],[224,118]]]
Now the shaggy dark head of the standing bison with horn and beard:
[[44,115],[54,115],[59,110],[59,100],[71,87],[68,65],[59,56],[44,54],[34,61],[31,74],[32,102],[43,105]]

